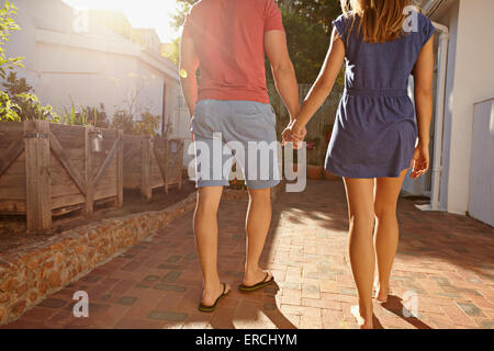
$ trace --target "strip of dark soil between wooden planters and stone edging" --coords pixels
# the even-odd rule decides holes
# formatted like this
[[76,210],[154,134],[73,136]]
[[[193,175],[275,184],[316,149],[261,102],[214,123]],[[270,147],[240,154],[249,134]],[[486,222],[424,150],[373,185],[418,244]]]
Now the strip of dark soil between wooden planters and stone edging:
[[186,181],[181,190],[171,188],[169,193],[165,193],[162,188],[153,192],[153,200],[143,200],[138,190],[124,190],[123,207],[94,208],[94,217],[85,218],[82,211],[60,216],[53,219],[53,233],[45,235],[26,234],[25,216],[0,215],[0,254],[5,251],[19,249],[20,247],[46,240],[64,230],[85,226],[101,219],[123,217],[128,214],[143,213],[148,211],[160,211],[186,199],[195,191],[193,182]]

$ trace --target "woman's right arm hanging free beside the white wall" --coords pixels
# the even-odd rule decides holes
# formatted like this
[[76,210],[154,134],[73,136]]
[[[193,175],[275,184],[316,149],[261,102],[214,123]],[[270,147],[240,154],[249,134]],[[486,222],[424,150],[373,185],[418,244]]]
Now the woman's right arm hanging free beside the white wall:
[[420,50],[413,71],[415,82],[415,111],[418,124],[418,145],[411,173],[417,179],[429,168],[429,134],[433,121],[434,37]]

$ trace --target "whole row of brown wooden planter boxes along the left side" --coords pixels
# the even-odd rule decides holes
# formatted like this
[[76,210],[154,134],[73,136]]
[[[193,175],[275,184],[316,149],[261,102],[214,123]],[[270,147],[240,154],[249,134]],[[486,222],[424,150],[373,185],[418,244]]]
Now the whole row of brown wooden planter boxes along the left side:
[[26,215],[27,231],[43,233],[53,216],[79,210],[92,216],[99,204],[121,207],[124,186],[136,180],[148,199],[156,186],[181,185],[183,143],[98,131],[100,150],[92,147],[92,126],[0,123],[0,214]]

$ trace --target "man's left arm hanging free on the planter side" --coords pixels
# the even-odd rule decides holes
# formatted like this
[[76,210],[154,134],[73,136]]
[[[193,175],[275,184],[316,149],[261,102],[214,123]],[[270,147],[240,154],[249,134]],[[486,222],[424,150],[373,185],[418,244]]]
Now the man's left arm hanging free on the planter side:
[[199,57],[195,54],[194,41],[191,37],[182,37],[180,45],[180,79],[191,117],[194,115],[195,104],[198,103],[198,81],[195,79],[198,68]]

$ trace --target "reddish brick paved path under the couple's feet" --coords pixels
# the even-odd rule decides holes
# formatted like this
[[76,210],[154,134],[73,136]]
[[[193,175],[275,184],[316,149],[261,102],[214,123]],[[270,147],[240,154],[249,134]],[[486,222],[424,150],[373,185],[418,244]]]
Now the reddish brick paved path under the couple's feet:
[[[220,270],[232,294],[213,314],[197,310],[201,271],[192,214],[52,295],[7,328],[356,328],[357,302],[347,253],[340,182],[310,182],[280,195],[263,254],[277,284],[244,294],[246,202],[223,203]],[[401,242],[383,328],[494,328],[494,229],[471,218],[424,213],[402,200]],[[72,316],[72,294],[87,291],[90,317]],[[417,294],[418,318],[401,297]],[[401,296],[401,297],[398,297]]]

